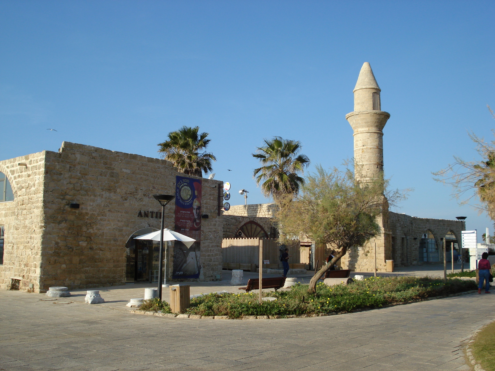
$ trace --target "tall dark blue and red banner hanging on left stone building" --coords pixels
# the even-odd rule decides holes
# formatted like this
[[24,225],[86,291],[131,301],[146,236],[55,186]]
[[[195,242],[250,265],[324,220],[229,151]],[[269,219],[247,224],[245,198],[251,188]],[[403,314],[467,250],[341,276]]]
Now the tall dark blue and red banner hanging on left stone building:
[[201,244],[201,180],[176,176],[175,232],[194,238],[187,248],[182,242],[174,244],[172,278],[199,278]]

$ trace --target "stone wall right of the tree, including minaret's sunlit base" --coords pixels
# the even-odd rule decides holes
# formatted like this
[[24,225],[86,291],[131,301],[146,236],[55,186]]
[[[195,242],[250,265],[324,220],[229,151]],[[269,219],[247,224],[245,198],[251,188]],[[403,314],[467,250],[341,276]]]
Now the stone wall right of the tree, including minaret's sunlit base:
[[[382,232],[366,246],[347,252],[342,258],[342,267],[356,272],[373,272],[375,267],[375,242],[377,270],[385,272],[386,260],[394,260],[396,267],[423,264],[418,262],[419,243],[423,233],[433,232],[442,250],[440,238],[453,232],[460,241],[461,223],[456,220],[416,218],[405,214],[388,212],[384,221],[379,221]],[[443,255],[440,254],[443,262]]]

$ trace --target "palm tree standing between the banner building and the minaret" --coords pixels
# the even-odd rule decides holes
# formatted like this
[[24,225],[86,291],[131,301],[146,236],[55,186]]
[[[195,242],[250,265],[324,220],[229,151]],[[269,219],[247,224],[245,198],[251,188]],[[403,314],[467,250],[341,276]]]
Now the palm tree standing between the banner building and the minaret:
[[298,174],[303,173],[304,167],[309,165],[307,156],[298,154],[301,143],[281,137],[264,139],[264,142],[266,145],[258,147],[257,153],[252,154],[263,165],[254,169],[256,184],[263,182],[261,191],[274,199],[296,194],[299,186],[304,184],[304,179]]

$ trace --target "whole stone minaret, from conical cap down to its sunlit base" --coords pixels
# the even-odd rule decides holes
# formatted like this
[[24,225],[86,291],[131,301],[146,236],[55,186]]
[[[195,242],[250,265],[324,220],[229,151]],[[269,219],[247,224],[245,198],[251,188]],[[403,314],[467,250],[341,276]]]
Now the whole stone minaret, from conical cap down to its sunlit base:
[[[383,180],[383,128],[390,117],[382,111],[378,86],[371,66],[365,62],[354,88],[354,111],[346,119],[354,131],[354,177],[358,180]],[[384,198],[384,212],[376,219],[380,233],[366,246],[349,251],[342,259],[343,266],[357,271],[375,269],[385,271],[386,260],[392,259],[392,240],[389,228],[388,202]]]

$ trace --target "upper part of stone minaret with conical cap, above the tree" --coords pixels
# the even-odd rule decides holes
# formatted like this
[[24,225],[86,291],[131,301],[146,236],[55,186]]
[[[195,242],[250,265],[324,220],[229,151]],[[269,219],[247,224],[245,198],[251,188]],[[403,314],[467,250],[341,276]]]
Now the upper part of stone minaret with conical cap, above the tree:
[[390,114],[381,110],[380,88],[368,62],[364,62],[354,88],[354,112],[346,119],[354,130],[355,177],[383,179],[383,128]]

